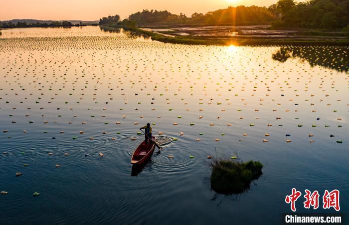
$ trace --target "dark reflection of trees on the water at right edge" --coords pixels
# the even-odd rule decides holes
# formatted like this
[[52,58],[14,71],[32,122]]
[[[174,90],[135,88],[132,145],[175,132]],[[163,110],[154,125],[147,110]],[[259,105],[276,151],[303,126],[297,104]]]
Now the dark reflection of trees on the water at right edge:
[[338,71],[349,70],[348,47],[281,47],[272,58],[274,60],[285,62],[288,58],[300,58],[302,61],[308,61],[313,66],[324,66]]

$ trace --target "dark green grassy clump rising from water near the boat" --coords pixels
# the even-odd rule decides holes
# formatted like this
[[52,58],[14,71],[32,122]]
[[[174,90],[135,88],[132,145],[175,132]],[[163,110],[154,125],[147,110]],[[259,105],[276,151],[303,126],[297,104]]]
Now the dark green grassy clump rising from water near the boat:
[[250,187],[253,180],[262,175],[260,162],[240,163],[230,160],[212,163],[211,187],[219,194],[239,194]]

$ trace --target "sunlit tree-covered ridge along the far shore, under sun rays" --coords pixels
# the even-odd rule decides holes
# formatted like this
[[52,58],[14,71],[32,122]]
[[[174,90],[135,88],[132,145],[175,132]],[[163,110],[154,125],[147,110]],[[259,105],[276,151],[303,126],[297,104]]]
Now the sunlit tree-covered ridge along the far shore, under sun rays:
[[144,25],[153,23],[186,24],[272,24],[282,28],[343,28],[349,31],[349,0],[309,0],[297,3],[294,0],[278,0],[269,7],[237,6],[209,11],[195,12],[191,17],[173,14],[167,10],[136,12],[127,19],[119,15],[103,17],[99,24]]

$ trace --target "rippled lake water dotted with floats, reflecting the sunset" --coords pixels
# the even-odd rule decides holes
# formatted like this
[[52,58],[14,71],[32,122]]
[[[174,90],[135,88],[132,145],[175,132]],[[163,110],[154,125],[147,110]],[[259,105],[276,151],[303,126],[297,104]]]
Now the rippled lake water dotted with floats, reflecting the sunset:
[[[1,224],[270,225],[291,212],[292,188],[339,189],[349,211],[348,46],[177,45],[98,26],[1,33]],[[178,140],[132,173],[148,122]],[[218,195],[208,155],[260,161],[263,175]],[[297,212],[335,212],[303,202]]]

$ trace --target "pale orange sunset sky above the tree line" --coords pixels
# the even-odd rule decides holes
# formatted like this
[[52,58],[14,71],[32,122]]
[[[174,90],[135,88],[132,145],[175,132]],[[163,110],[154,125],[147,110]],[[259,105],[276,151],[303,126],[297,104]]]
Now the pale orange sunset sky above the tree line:
[[121,18],[142,9],[183,12],[187,16],[197,11],[226,8],[229,5],[269,6],[277,0],[1,0],[0,20],[98,20],[102,16],[119,14]]

